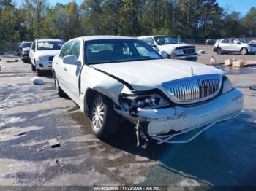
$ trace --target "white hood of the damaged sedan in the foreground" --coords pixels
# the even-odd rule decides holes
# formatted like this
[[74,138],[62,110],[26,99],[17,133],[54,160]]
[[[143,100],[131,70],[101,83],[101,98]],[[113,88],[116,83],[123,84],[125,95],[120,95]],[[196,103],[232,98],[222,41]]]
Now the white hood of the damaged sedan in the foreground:
[[91,66],[124,80],[135,90],[162,89],[163,82],[191,77],[192,69],[194,75],[225,74],[224,71],[205,64],[169,59],[102,63]]

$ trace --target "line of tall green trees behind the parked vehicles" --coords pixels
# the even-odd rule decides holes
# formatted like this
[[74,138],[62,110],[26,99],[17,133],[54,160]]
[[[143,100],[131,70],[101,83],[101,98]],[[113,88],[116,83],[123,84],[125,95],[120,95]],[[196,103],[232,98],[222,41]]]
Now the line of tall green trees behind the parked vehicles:
[[0,42],[112,34],[182,38],[255,37],[256,8],[242,16],[216,0],[0,0]]

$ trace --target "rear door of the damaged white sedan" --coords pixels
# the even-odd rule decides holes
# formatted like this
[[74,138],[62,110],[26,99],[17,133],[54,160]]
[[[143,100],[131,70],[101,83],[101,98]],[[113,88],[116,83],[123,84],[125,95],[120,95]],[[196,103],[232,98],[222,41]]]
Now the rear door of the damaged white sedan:
[[58,79],[59,85],[64,90],[67,95],[69,95],[69,87],[66,83],[67,81],[67,66],[63,63],[63,58],[66,55],[69,55],[69,52],[71,50],[72,44],[74,41],[69,41],[61,48],[61,51],[59,53],[59,56],[55,59],[55,74]]

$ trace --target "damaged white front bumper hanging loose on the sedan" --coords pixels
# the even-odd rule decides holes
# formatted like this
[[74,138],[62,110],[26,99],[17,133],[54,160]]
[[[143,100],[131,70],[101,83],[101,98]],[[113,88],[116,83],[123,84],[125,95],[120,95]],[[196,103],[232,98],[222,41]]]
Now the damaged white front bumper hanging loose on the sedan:
[[240,91],[233,89],[206,104],[197,106],[175,106],[163,109],[138,109],[139,117],[117,110],[119,114],[140,123],[148,136],[161,136],[195,130],[216,122],[236,117],[243,109],[244,99]]

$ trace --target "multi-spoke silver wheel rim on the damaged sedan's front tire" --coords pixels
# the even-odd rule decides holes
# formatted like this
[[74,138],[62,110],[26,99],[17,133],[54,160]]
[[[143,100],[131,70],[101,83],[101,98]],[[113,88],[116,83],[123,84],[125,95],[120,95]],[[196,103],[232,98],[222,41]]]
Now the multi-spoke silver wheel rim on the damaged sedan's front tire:
[[103,100],[100,97],[97,97],[94,100],[94,106],[92,107],[92,125],[94,130],[97,131],[102,128],[104,121],[104,104]]

